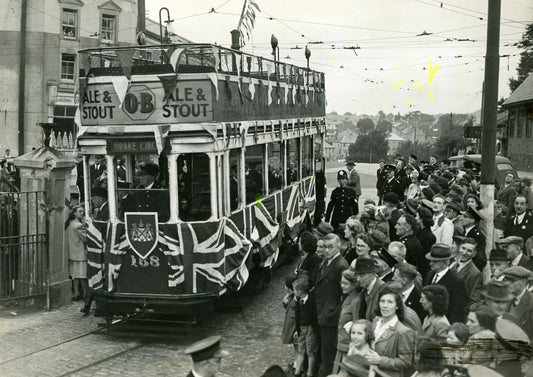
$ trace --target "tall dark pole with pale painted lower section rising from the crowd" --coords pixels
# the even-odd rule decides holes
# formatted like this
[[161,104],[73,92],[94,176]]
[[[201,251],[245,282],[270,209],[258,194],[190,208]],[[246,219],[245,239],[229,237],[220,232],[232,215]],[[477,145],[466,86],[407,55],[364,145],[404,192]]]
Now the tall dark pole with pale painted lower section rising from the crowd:
[[[483,91],[483,138],[481,155],[480,198],[485,207],[485,255],[489,256],[494,244],[494,183],[496,176],[496,122],[498,116],[498,71],[500,67],[500,11],[501,0],[489,0],[487,21],[487,53]],[[485,269],[485,274],[490,274]]]

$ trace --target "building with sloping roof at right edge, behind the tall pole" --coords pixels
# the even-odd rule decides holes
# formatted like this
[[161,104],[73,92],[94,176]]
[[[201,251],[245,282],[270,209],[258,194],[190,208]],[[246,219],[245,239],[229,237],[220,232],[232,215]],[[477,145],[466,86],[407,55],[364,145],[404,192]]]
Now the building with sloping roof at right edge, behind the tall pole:
[[508,110],[507,156],[517,170],[533,169],[533,73],[505,100]]

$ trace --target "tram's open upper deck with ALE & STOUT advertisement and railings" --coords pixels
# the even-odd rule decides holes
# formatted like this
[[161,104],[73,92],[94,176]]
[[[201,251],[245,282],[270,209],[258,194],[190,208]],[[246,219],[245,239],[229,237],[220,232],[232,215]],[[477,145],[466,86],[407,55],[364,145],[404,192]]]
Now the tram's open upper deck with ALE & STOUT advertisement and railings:
[[211,44],[81,50],[79,77],[84,126],[325,116],[323,73]]

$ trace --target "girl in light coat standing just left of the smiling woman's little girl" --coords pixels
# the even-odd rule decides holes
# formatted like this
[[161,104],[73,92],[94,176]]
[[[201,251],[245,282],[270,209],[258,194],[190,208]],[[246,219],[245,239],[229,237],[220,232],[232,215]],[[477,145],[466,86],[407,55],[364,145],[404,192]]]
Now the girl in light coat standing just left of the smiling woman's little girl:
[[[348,352],[348,346],[350,345],[350,333],[349,329],[345,328],[347,323],[351,323],[356,320],[355,317],[356,308],[359,307],[360,291],[357,289],[357,279],[355,272],[352,270],[345,270],[341,277],[341,289],[342,295],[345,297],[341,312],[339,315],[339,324],[337,326],[337,355],[335,361],[339,363],[342,358]],[[338,364],[334,364],[333,373],[338,373]]]

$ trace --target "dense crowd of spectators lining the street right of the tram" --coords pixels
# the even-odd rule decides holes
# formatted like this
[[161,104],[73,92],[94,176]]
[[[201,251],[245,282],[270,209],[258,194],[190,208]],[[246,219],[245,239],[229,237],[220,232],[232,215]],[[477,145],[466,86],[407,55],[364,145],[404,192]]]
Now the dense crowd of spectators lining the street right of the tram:
[[301,234],[283,301],[292,375],[532,375],[529,182],[497,189],[486,255],[479,171],[417,160],[382,161],[364,203],[349,162],[325,221]]

